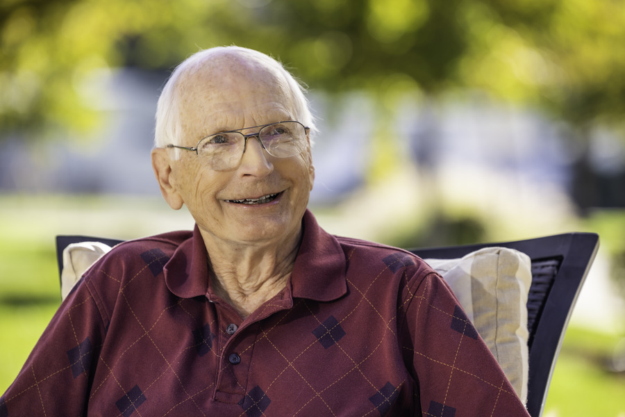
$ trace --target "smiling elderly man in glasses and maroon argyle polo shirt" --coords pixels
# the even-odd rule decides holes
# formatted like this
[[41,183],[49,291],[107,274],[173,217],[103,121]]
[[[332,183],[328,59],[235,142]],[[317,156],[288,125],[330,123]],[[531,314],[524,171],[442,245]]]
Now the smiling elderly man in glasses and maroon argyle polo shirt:
[[225,47],[182,63],[152,162],[194,230],[95,263],[0,416],[527,416],[439,275],[317,225],[314,130],[272,58]]

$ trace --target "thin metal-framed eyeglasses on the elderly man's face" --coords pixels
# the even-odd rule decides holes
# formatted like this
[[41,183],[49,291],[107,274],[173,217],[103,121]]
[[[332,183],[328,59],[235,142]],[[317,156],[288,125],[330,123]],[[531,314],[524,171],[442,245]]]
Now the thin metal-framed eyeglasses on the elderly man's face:
[[[249,133],[248,135],[241,133],[242,130],[255,127],[260,127],[258,133]],[[288,158],[299,155],[306,149],[308,130],[309,128],[300,122],[287,120],[215,133],[206,136],[206,138],[201,138],[195,147],[178,145],[167,145],[167,147],[193,151],[206,158],[213,170],[228,170],[236,167],[241,161],[249,138],[258,139],[260,146],[269,155],[276,158]]]

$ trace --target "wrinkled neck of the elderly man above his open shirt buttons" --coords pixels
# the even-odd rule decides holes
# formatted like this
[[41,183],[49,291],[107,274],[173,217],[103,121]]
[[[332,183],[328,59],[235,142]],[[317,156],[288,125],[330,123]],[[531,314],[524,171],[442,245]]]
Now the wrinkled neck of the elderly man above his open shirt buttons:
[[213,292],[247,318],[286,286],[300,238],[301,231],[277,245],[249,245],[204,236]]

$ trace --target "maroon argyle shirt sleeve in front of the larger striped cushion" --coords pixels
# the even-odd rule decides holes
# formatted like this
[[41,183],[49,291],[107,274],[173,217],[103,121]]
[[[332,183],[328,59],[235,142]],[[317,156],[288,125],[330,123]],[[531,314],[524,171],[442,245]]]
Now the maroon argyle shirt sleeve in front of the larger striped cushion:
[[424,416],[528,416],[442,278],[408,283],[399,341]]

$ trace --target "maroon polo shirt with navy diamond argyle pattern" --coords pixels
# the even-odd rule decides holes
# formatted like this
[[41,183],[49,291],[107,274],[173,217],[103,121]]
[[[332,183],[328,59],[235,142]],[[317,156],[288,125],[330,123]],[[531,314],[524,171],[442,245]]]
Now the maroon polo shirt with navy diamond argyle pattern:
[[13,416],[527,416],[446,284],[416,256],[306,213],[284,290],[242,320],[199,231],[118,245],[62,304]]

